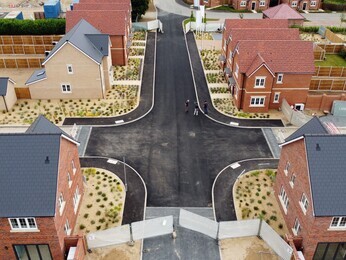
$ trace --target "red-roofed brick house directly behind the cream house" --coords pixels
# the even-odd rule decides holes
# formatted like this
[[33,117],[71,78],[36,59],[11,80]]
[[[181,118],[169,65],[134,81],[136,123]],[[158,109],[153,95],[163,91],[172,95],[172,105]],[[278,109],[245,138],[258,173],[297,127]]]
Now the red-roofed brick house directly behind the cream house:
[[84,0],[66,12],[66,32],[82,18],[99,31],[109,34],[112,65],[126,65],[131,45],[131,3],[129,0],[115,4],[110,0]]

